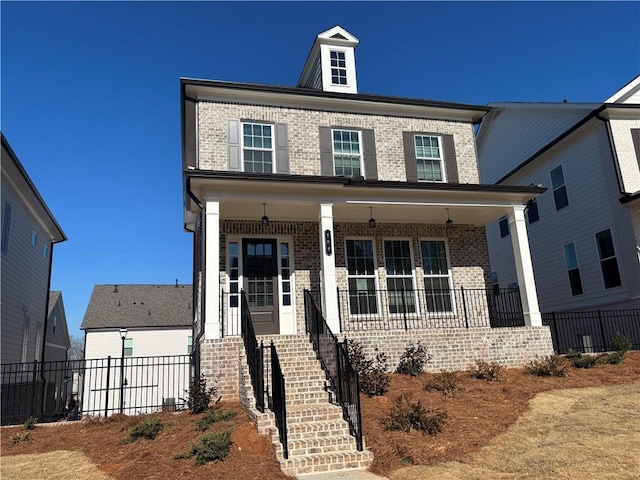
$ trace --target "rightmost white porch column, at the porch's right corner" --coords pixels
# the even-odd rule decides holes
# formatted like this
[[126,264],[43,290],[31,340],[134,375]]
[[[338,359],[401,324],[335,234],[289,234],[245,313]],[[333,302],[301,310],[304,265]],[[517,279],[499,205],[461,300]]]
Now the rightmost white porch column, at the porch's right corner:
[[527,237],[527,226],[524,221],[524,205],[514,206],[513,210],[509,212],[509,230],[511,242],[513,243],[518,285],[520,286],[524,324],[529,327],[541,327],[542,316],[538,306],[536,281],[533,276],[531,251],[529,250],[529,238]]

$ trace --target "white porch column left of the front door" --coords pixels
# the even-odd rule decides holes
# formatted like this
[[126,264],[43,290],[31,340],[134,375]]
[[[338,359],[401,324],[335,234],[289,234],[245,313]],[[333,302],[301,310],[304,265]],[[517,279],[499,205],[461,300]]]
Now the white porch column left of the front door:
[[220,201],[205,198],[204,338],[220,338]]

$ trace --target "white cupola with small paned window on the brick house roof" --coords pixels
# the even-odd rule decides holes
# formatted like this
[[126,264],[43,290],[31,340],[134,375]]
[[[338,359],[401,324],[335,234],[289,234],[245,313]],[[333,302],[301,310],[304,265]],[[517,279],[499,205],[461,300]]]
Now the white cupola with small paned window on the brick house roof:
[[356,37],[339,25],[318,34],[298,80],[298,87],[325,92],[358,93]]

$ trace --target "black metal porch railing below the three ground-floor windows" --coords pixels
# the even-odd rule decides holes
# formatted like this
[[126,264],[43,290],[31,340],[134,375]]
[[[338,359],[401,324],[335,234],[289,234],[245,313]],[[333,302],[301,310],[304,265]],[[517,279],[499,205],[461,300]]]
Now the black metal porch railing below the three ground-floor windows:
[[343,331],[524,325],[514,289],[338,290],[338,302]]

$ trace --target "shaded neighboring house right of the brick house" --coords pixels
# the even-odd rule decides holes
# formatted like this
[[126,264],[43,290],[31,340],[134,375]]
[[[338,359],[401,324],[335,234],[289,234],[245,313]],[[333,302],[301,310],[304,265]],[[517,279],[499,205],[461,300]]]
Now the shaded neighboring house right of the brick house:
[[[540,309],[640,308],[640,76],[604,103],[491,103],[480,180],[541,185],[527,229]],[[505,219],[487,226],[492,280],[517,285]]]

